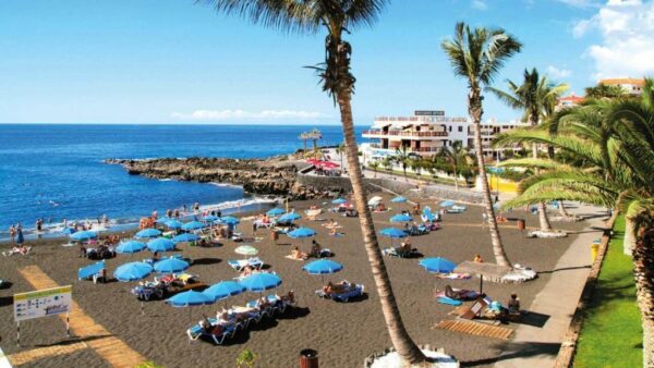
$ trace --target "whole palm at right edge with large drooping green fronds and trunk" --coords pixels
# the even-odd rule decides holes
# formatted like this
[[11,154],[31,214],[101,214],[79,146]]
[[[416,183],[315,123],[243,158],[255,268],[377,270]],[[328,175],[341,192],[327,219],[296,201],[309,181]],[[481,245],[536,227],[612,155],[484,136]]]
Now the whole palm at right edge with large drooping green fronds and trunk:
[[[620,210],[627,229],[625,246],[633,247],[637,300],[643,323],[643,366],[654,366],[654,81],[646,79],[641,100],[595,100],[561,113],[556,136],[514,131],[504,143],[552,145],[581,160],[564,163],[528,159],[546,169],[520,183],[520,196],[506,207],[569,199]],[[506,162],[505,164],[521,164]],[[635,236],[633,245],[628,236]]]

